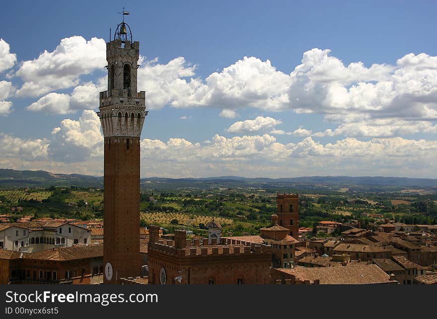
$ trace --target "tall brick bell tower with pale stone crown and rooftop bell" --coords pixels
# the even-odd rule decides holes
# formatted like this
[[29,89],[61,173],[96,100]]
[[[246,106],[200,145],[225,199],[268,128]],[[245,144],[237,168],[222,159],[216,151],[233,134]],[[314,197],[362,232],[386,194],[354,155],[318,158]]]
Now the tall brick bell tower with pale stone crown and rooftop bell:
[[137,92],[140,42],[124,21],[106,43],[108,90],[97,112],[104,135],[105,284],[140,274],[140,135],[146,119],[146,92]]

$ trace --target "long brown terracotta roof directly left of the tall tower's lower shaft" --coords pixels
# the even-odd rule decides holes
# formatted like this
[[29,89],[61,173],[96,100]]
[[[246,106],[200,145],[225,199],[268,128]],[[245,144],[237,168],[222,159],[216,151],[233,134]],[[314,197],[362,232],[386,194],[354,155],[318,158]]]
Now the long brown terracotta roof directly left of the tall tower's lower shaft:
[[73,260],[103,256],[102,244],[74,245],[23,255],[23,258],[43,260]]

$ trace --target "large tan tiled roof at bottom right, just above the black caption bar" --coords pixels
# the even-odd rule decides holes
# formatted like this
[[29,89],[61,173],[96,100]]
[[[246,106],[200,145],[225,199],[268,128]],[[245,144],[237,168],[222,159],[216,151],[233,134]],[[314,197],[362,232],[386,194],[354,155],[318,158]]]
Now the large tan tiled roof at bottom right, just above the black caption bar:
[[[294,275],[296,280],[319,279],[322,285],[358,285],[390,283],[390,276],[375,264],[337,267],[279,268],[279,271]],[[396,281],[394,281],[396,282]]]

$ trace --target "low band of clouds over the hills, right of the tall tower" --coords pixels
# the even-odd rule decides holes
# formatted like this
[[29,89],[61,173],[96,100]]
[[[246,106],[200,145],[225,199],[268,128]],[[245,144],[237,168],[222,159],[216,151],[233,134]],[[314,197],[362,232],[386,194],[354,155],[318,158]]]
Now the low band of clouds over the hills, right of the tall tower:
[[[215,135],[204,145],[185,139],[143,139],[142,168],[145,176],[187,177],[219,176],[313,176],[382,175],[430,177],[436,164],[436,141],[400,137],[360,141],[345,138],[322,144],[311,137],[296,144],[283,144],[269,134],[235,136]],[[430,167],[430,165],[432,167]]]

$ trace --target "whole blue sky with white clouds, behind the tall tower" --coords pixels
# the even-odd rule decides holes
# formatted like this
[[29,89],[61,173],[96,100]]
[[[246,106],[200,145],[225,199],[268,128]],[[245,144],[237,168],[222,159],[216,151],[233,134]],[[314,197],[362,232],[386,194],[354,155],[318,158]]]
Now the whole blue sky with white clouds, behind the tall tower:
[[0,167],[102,174],[87,110],[124,5],[151,111],[142,176],[437,178],[437,4],[380,2],[9,1]]

